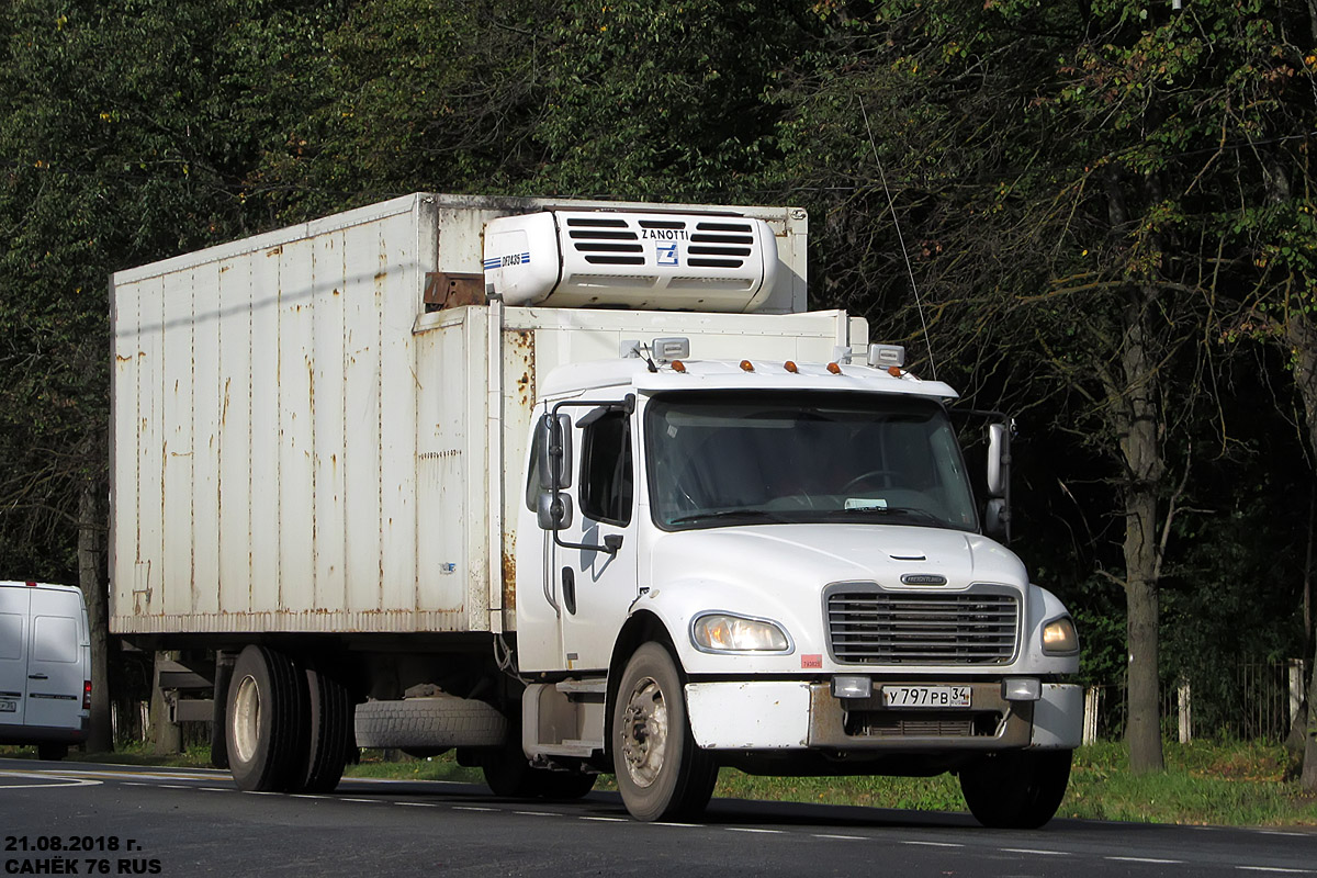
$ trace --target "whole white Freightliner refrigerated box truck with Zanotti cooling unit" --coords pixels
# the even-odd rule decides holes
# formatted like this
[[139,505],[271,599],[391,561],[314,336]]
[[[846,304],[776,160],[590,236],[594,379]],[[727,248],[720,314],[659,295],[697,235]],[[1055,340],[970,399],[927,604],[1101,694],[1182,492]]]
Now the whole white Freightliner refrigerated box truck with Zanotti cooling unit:
[[792,208],[412,195],[113,276],[112,629],[245,790],[456,748],[502,795],[957,773],[1046,823],[1062,603],[944,383],[806,311]]

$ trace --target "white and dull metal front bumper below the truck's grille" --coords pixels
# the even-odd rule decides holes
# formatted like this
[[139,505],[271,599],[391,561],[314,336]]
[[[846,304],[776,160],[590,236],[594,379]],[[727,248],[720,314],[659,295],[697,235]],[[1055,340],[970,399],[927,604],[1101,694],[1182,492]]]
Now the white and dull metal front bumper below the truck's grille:
[[884,707],[877,692],[835,698],[828,683],[701,682],[686,684],[686,707],[695,742],[712,750],[931,753],[1079,746],[1084,727],[1079,686],[1042,683],[1038,700],[1008,700],[997,681],[969,686],[969,708],[903,710]]

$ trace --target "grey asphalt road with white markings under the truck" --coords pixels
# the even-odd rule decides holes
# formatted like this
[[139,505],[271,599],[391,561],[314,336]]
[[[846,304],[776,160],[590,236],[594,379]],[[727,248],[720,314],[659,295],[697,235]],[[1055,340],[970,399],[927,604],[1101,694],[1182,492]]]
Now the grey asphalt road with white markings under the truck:
[[241,792],[225,773],[0,760],[0,874],[101,875],[1317,875],[1317,831],[1054,820],[715,799],[640,824],[615,794],[344,781]]

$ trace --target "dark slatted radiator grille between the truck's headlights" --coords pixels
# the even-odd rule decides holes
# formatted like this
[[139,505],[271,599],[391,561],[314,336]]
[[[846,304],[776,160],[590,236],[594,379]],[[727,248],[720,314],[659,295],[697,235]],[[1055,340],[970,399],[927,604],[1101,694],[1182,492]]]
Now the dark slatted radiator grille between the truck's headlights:
[[834,588],[832,657],[864,665],[1005,665],[1015,654],[1019,602],[1008,590],[959,594]]

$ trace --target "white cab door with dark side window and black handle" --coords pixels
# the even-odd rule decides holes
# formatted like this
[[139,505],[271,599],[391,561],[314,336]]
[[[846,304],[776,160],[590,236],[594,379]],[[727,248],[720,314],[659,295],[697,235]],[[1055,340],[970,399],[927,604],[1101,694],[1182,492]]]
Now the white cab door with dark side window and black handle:
[[606,670],[636,599],[633,405],[601,405],[576,420],[572,521],[547,533],[568,670]]

